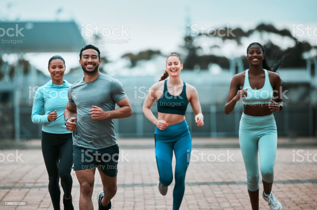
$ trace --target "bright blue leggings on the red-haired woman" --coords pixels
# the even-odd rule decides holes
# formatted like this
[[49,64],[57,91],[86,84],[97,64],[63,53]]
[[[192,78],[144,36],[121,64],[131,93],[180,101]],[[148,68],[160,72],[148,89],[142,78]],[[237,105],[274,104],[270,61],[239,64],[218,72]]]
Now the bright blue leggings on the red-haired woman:
[[185,191],[185,174],[190,161],[191,133],[184,120],[169,125],[165,130],[155,130],[155,156],[159,170],[159,181],[169,186],[173,181],[172,157],[176,158],[173,210],[178,210]]

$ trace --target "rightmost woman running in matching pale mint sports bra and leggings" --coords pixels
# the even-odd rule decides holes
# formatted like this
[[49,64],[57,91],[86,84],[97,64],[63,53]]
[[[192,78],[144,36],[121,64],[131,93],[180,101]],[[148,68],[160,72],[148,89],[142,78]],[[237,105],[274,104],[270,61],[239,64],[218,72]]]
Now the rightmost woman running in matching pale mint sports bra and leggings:
[[[265,59],[264,48],[254,42],[247,48],[249,69],[233,76],[224,107],[230,114],[242,98],[244,106],[239,126],[239,144],[247,171],[247,186],[252,209],[259,209],[259,168],[264,191],[262,197],[271,210],[281,210],[281,203],[271,192],[277,148],[277,131],[273,112],[282,110],[281,79],[275,71],[283,58],[272,69]],[[273,99],[275,101],[273,101]]]

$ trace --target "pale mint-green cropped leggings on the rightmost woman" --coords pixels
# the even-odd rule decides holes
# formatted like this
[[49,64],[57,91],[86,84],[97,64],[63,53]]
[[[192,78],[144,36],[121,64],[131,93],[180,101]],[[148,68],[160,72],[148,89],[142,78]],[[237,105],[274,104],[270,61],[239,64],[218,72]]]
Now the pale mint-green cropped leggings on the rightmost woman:
[[274,162],[277,147],[277,131],[273,114],[254,117],[242,114],[239,127],[239,143],[242,151],[249,191],[259,189],[258,151],[262,180],[274,179]]

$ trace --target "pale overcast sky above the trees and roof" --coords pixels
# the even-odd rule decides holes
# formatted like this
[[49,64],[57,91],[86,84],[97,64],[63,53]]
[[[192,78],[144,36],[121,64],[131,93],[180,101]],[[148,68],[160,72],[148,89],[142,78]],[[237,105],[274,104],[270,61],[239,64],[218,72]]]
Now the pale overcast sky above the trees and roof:
[[[0,14],[6,20],[54,21],[73,19],[81,24],[100,28],[128,29],[126,44],[101,44],[101,52],[110,60],[127,52],[145,49],[161,50],[165,54],[178,51],[186,35],[188,18],[191,24],[206,28],[242,27],[250,29],[257,24],[271,23],[278,29],[292,30],[292,24],[317,27],[317,1],[17,1],[2,0]],[[11,7],[8,9],[8,3]],[[62,9],[59,14],[57,11]],[[1,26],[0,26],[1,27]],[[118,39],[106,37],[105,39]],[[313,37],[317,39],[317,37]],[[78,52],[79,53],[79,52]],[[78,65],[78,53],[59,53],[65,57],[68,68]],[[29,55],[39,69],[47,69],[47,62],[57,52]]]

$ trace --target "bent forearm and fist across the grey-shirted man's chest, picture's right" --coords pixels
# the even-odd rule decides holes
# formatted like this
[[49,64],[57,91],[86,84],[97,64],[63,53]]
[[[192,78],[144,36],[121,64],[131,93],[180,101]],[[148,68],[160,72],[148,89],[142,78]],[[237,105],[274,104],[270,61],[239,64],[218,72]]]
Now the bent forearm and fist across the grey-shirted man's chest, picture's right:
[[132,107],[128,97],[118,101],[117,105],[120,107],[112,111],[104,111],[98,106],[92,106],[93,108],[89,110],[89,114],[92,119],[97,120],[103,120],[106,118],[120,119],[127,118],[132,115]]

